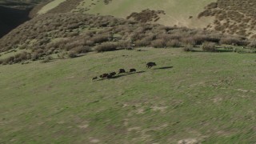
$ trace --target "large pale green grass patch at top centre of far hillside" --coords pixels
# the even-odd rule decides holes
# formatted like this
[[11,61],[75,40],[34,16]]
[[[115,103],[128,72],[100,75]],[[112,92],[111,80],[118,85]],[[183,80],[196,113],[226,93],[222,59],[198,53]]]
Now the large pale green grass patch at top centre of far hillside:
[[[198,14],[204,10],[204,7],[215,0],[118,0],[112,1],[105,5],[103,1],[86,1],[84,4],[78,6],[78,9],[89,8],[86,13],[114,15],[119,18],[126,18],[133,12],[141,12],[142,10],[164,10],[166,15],[161,15],[159,23],[166,26],[191,26],[191,27],[205,27],[211,22],[213,18],[198,19]],[[91,5],[95,3],[96,5]],[[193,16],[193,18],[189,18]]]

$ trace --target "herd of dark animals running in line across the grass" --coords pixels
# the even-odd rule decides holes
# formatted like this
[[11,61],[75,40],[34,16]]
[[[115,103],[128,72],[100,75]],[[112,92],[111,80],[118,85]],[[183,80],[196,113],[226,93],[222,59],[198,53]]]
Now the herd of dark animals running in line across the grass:
[[[147,63],[146,63],[146,67],[147,67],[147,68],[150,69],[152,66],[157,66],[157,64],[156,64],[155,62],[147,62]],[[136,72],[136,69],[130,69],[129,72],[130,72],[130,73]],[[119,70],[118,70],[118,74],[122,74],[122,73],[126,73],[126,70],[125,70],[125,69],[119,69]],[[99,76],[99,78],[101,78],[101,79],[107,78],[107,79],[108,79],[108,78],[113,78],[114,75],[116,75],[116,72],[111,72],[110,74],[105,73],[105,74],[101,74],[101,75]],[[96,79],[98,79],[98,77],[92,78],[92,81],[94,81],[94,80],[96,80]]]

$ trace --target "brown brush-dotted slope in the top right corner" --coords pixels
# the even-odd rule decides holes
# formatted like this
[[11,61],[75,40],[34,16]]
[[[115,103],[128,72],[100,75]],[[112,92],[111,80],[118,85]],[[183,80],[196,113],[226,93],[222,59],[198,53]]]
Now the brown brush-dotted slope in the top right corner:
[[199,18],[214,16],[208,29],[222,31],[223,34],[238,34],[256,38],[256,1],[218,0],[206,7]]

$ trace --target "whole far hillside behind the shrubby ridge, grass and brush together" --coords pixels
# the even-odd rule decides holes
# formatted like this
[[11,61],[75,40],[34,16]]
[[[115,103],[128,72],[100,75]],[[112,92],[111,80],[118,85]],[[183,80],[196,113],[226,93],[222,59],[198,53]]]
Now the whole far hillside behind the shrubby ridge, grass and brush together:
[[[76,0],[60,1],[55,7],[45,6],[46,13],[66,12],[113,15],[118,18],[146,19],[165,26],[187,26],[218,30],[223,34],[256,37],[254,0]],[[66,9],[66,7],[69,7]],[[76,8],[75,8],[76,7]],[[40,14],[39,13],[39,14]]]

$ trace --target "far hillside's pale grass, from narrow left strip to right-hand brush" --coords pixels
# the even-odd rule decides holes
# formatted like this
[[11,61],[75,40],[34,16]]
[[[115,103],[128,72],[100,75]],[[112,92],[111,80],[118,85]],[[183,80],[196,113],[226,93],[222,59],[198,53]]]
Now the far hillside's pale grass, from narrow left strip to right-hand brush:
[[[72,10],[78,13],[113,15],[118,18],[126,18],[133,12],[142,10],[164,10],[166,14],[160,15],[158,23],[166,26],[189,26],[189,27],[206,27],[213,22],[212,18],[198,19],[198,14],[204,10],[210,2],[215,0],[113,0],[113,1],[93,1],[93,0],[54,0],[46,6],[43,6],[38,14],[46,12],[58,13]],[[71,6],[71,7],[70,7]],[[192,17],[192,18],[190,18]]]

